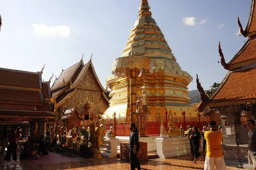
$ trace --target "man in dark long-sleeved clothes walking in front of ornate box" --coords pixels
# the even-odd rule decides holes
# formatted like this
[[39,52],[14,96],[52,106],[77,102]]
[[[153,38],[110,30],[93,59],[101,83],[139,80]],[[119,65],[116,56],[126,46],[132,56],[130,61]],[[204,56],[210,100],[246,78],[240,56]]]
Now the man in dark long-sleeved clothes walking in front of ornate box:
[[135,123],[130,123],[130,130],[129,157],[131,160],[131,170],[135,170],[136,167],[140,170],[140,162],[137,158],[137,152],[140,149],[139,134],[136,130]]

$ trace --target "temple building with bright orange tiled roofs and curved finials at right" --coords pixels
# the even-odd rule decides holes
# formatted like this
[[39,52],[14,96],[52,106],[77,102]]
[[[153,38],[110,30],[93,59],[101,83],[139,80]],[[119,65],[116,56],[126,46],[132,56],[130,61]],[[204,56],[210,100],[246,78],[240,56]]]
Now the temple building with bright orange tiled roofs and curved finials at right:
[[245,30],[240,32],[248,40],[238,53],[226,63],[219,43],[221,65],[228,70],[218,89],[209,97],[198,83],[202,103],[199,113],[209,116],[219,114],[223,127],[223,153],[226,164],[248,166],[248,119],[256,120],[256,2],[251,1],[250,16]]

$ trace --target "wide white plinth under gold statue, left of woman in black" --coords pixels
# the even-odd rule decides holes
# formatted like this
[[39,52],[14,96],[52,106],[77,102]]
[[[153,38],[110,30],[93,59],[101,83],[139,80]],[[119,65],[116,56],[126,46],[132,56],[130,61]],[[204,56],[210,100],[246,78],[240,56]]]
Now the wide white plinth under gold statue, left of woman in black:
[[190,154],[189,139],[187,137],[156,138],[157,155],[160,158],[172,158]]

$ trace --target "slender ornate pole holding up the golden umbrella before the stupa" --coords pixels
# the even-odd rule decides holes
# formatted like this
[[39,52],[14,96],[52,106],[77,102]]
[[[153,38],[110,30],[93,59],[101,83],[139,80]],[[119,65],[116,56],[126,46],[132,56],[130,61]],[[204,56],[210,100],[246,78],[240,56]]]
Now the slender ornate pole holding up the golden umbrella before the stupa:
[[137,124],[136,121],[136,70],[135,68],[130,69],[129,71],[130,78],[130,115],[131,122]]

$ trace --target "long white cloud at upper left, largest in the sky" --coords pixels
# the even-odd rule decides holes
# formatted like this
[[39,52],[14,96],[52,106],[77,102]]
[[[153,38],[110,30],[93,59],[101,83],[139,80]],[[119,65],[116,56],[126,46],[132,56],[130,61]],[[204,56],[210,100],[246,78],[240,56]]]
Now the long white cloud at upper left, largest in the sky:
[[70,27],[68,26],[46,26],[42,24],[32,24],[36,34],[41,35],[60,35],[62,37],[68,37],[71,34]]

